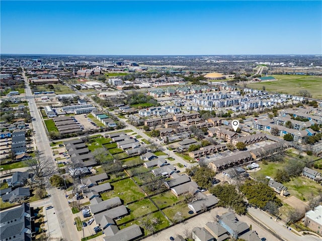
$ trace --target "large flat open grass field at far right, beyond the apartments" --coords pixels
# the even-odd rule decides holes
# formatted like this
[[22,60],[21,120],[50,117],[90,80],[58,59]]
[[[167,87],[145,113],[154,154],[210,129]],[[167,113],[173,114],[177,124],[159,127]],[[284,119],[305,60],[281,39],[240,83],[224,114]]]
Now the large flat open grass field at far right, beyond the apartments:
[[313,98],[322,99],[322,81],[320,76],[307,75],[273,75],[277,81],[250,83],[248,88],[262,89],[265,86],[267,91],[276,91],[297,95],[301,89],[306,89]]

